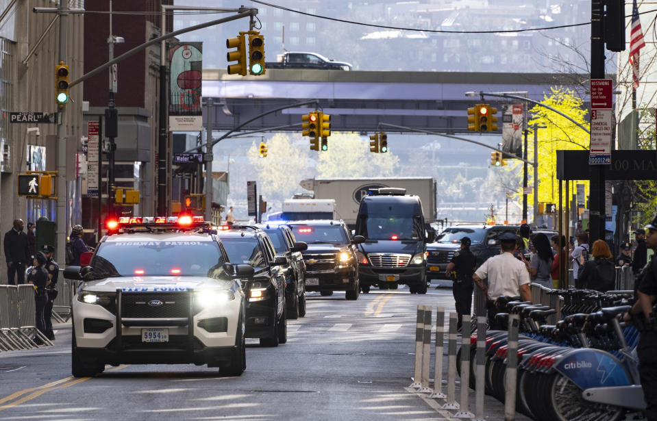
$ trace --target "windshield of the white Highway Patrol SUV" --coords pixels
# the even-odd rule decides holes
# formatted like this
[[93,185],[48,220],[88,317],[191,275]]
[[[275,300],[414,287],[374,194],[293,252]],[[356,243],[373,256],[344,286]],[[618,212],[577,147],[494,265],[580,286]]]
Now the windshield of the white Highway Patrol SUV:
[[94,277],[211,276],[225,259],[214,241],[103,242],[91,261]]

